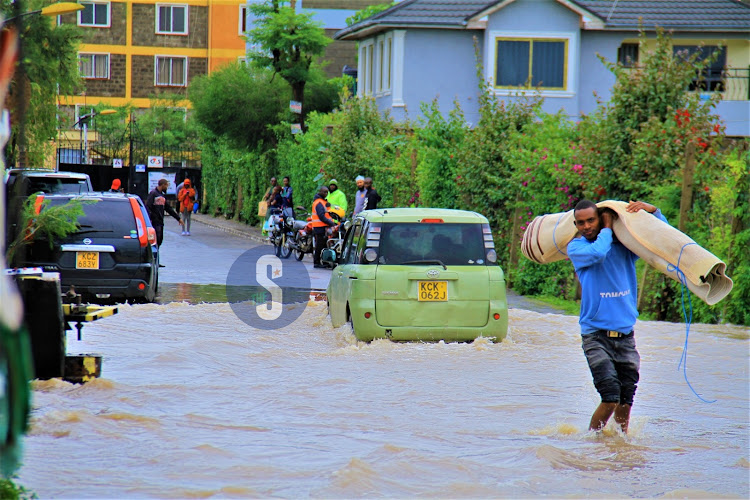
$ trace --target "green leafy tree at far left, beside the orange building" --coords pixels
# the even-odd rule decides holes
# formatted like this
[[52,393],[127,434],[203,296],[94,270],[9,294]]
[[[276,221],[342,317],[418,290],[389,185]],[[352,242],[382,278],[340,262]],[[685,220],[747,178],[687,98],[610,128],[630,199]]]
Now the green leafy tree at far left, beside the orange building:
[[[56,3],[52,0],[28,0],[25,11],[35,11]],[[14,2],[2,0],[0,11],[7,19],[17,14]],[[78,45],[82,38],[79,27],[65,24],[56,26],[54,19],[41,15],[23,17],[20,33],[22,60],[11,83],[8,109],[11,112],[12,133],[6,146],[8,164],[19,160],[19,132],[23,127],[26,158],[29,166],[42,166],[51,153],[51,139],[57,133],[57,95],[78,93]],[[22,102],[23,101],[23,102]],[[19,110],[25,109],[25,116]]]

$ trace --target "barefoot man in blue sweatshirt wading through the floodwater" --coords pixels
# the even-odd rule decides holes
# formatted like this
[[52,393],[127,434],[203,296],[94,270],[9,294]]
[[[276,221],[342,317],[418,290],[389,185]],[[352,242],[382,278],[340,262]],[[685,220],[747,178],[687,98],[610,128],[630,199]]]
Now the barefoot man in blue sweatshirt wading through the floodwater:
[[[626,210],[645,210],[667,222],[658,208],[642,201],[631,201]],[[627,433],[641,364],[633,331],[638,318],[638,256],[615,238],[614,211],[600,210],[594,202],[581,200],[573,214],[573,223],[581,233],[568,244],[568,257],[582,289],[578,323],[583,352],[601,396],[589,430],[603,429],[614,414],[615,422]]]

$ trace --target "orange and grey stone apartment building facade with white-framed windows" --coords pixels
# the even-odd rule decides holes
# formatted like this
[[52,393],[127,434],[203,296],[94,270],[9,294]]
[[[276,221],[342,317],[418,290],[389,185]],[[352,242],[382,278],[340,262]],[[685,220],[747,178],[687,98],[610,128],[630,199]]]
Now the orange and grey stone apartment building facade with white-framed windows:
[[148,108],[160,94],[187,96],[192,79],[245,56],[245,0],[79,3],[82,11],[59,17],[85,30],[79,49],[84,91],[60,96],[63,128],[99,104]]

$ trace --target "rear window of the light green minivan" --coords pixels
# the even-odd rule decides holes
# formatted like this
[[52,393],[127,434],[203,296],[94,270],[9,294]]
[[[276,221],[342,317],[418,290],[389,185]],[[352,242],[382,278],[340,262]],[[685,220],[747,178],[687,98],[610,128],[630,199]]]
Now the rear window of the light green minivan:
[[482,224],[384,223],[379,254],[379,263],[389,265],[420,260],[447,266],[486,263]]

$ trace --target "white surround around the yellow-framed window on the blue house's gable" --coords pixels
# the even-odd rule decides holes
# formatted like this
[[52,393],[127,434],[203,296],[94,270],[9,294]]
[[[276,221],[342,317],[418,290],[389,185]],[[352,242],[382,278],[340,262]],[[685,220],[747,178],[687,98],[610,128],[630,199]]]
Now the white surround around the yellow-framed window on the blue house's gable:
[[[565,75],[563,78],[565,88],[541,89],[534,88],[503,88],[497,87],[495,83],[496,65],[497,65],[497,40],[498,39],[531,39],[531,40],[563,40],[566,41],[566,61]],[[578,88],[578,68],[580,65],[580,39],[579,35],[573,31],[561,32],[531,32],[531,31],[491,31],[487,33],[485,39],[487,46],[487,56],[485,59],[485,80],[490,84],[490,91],[497,96],[515,96],[515,95],[541,95],[542,97],[574,97]]]

